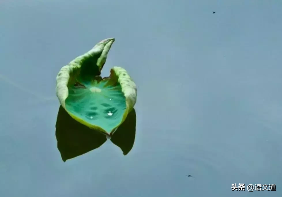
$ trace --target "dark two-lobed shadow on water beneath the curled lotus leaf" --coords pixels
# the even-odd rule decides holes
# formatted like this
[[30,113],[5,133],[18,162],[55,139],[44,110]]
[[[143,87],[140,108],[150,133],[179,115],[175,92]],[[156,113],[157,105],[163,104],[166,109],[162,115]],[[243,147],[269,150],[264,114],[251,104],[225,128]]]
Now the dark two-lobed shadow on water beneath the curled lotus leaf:
[[[133,147],[135,133],[136,112],[133,109],[114,132],[111,141],[120,147],[123,155],[127,155]],[[74,120],[62,106],[57,115],[56,138],[64,162],[100,147],[107,140],[105,135]]]

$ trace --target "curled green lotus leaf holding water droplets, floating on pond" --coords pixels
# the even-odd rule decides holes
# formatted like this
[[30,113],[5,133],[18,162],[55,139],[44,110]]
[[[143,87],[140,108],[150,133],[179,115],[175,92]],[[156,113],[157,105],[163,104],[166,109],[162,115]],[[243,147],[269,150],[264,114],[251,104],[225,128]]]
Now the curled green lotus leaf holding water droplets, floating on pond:
[[109,77],[100,76],[114,40],[100,41],[63,66],[56,77],[56,94],[67,113],[107,136],[125,121],[137,96],[136,84],[125,69],[113,67]]

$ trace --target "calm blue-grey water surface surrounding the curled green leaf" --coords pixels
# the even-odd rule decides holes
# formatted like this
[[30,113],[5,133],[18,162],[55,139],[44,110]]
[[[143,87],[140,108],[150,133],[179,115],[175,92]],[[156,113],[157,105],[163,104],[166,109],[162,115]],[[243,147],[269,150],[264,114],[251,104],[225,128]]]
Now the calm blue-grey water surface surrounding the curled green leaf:
[[[282,196],[282,2],[25,2],[0,3],[0,196]],[[59,69],[108,37],[102,75],[138,86],[114,143],[55,96]]]

